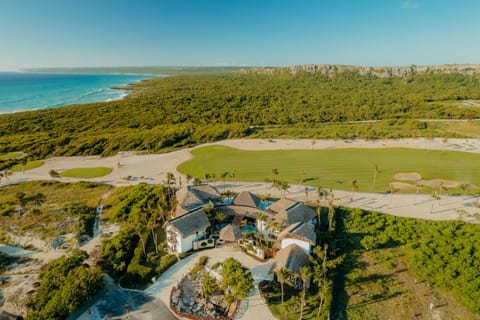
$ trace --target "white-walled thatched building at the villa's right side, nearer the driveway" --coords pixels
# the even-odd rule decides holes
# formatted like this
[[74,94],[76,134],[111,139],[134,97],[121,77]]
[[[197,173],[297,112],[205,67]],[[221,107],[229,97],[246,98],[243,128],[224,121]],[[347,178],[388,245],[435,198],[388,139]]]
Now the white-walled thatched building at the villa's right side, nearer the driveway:
[[277,247],[285,249],[291,244],[295,244],[310,255],[312,248],[317,241],[317,235],[314,226],[305,222],[297,222],[290,225],[287,229],[280,232],[277,237]]

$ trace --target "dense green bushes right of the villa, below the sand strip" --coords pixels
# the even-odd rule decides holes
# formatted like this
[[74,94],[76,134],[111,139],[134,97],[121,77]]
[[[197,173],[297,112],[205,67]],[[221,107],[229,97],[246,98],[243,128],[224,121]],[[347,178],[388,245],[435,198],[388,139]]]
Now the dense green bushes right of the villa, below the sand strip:
[[[336,241],[345,259],[334,279],[332,314],[363,319],[358,308],[348,306],[345,285],[368,279],[358,277],[364,252],[394,268],[395,259],[404,261],[408,272],[420,282],[453,295],[473,313],[480,314],[480,226],[459,221],[424,221],[381,215],[359,209],[338,209]],[[392,250],[394,249],[394,250]],[[382,277],[371,278],[382,283]],[[386,288],[392,283],[387,282]],[[368,304],[388,299],[383,292],[370,297]],[[388,314],[388,311],[384,315]],[[381,316],[381,315],[379,315]]]

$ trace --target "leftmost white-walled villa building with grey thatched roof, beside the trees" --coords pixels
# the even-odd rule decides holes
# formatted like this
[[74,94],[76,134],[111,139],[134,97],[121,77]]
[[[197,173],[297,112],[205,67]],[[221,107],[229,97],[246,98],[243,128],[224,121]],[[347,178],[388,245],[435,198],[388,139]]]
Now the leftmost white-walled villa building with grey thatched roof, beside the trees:
[[208,216],[202,208],[187,212],[167,222],[167,246],[177,253],[193,249],[193,242],[205,237],[210,226]]

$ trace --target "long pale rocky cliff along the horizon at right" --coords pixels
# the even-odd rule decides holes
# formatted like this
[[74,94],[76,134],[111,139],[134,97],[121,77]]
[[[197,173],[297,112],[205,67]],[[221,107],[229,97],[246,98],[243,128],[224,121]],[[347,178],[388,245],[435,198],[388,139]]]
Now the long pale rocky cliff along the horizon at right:
[[431,66],[398,66],[398,67],[360,67],[333,64],[304,64],[290,67],[259,67],[241,69],[241,73],[275,74],[288,72],[298,74],[301,72],[320,73],[334,76],[342,72],[355,72],[360,75],[374,75],[380,78],[408,77],[418,73],[461,73],[465,75],[480,74],[480,64],[442,64]]

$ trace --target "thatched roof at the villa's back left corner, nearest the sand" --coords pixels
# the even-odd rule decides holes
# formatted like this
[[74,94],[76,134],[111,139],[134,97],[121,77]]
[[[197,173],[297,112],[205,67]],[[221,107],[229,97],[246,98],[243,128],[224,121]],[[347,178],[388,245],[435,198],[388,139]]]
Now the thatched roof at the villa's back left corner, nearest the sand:
[[183,208],[192,209],[201,206],[210,200],[221,197],[218,190],[208,184],[199,186],[186,186],[175,193],[178,205]]

